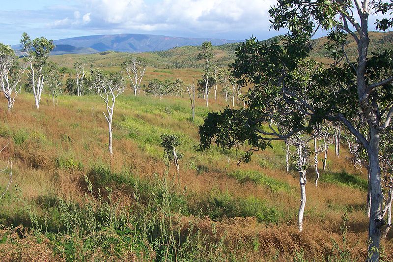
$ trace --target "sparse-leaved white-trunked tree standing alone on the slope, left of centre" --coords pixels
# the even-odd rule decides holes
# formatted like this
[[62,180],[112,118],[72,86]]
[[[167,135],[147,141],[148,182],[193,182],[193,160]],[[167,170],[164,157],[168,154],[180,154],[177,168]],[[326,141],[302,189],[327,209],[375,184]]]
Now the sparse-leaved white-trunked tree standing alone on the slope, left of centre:
[[93,78],[93,86],[97,90],[98,94],[104,100],[107,114],[103,112],[105,119],[108,122],[108,131],[109,131],[109,143],[108,150],[109,153],[113,154],[112,148],[112,120],[113,120],[113,111],[114,111],[114,103],[116,98],[124,92],[124,80],[119,74],[110,74],[109,76],[105,76],[101,71],[95,70],[92,73]]

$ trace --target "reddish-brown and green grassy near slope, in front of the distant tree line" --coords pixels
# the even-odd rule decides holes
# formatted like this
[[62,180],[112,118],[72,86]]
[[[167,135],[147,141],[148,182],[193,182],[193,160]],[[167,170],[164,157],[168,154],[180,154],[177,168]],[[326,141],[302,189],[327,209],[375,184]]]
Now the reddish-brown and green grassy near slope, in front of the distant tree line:
[[[294,171],[290,175],[283,172],[280,144],[258,153],[251,163],[240,167],[236,165],[235,152],[217,148],[205,153],[194,150],[197,125],[202,123],[208,110],[222,108],[223,102],[212,101],[212,107],[207,110],[202,106],[203,101],[198,100],[196,123],[192,123],[189,121],[189,101],[185,98],[121,97],[116,101],[114,157],[111,160],[106,148],[106,122],[101,114],[104,108],[98,97],[64,95],[59,98],[56,109],[48,98],[44,98],[39,111],[33,109],[32,101],[31,95],[22,94],[11,115],[4,107],[0,111],[0,143],[11,141],[1,155],[1,163],[5,165],[8,157],[12,157],[14,174],[12,187],[0,202],[3,207],[0,224],[11,227],[0,231],[1,243],[4,243],[0,245],[0,256],[12,251],[14,253],[10,254],[18,254],[20,258],[35,256],[39,261],[44,260],[44,255],[48,256],[45,259],[53,261],[78,261],[92,260],[93,253],[98,252],[97,260],[115,256],[143,258],[141,260],[155,256],[159,259],[163,244],[151,241],[158,239],[157,236],[143,237],[142,229],[149,232],[149,224],[141,226],[138,221],[142,219],[141,214],[144,214],[143,219],[150,217],[147,213],[157,217],[167,214],[159,208],[162,203],[157,202],[162,199],[159,196],[167,192],[163,191],[160,178],[165,170],[159,145],[163,133],[178,134],[182,141],[178,150],[185,155],[180,161],[181,185],[177,186],[175,179],[176,186],[168,191],[172,227],[186,230],[192,225],[191,250],[199,256],[208,254],[198,258],[192,257],[190,250],[183,251],[188,254],[184,259],[216,261],[217,256],[226,256],[226,259],[232,256],[253,261],[261,256],[274,260],[276,256],[285,261],[295,250],[303,249],[306,257],[319,260],[332,253],[331,237],[339,241],[340,218],[344,212],[350,218],[349,242],[355,245],[358,239],[361,240],[353,254],[358,258],[365,254],[365,174],[351,168],[345,153],[339,159],[330,153],[328,170],[322,173],[318,189],[313,186],[312,172],[309,173],[305,232],[299,234],[296,231],[298,178]],[[5,101],[2,102],[5,105]],[[173,112],[169,117],[164,113],[166,107]],[[156,178],[155,173],[161,175]],[[92,182],[93,199],[84,193],[88,191],[84,175]],[[169,177],[171,175],[176,177],[173,168]],[[1,180],[1,185],[4,184],[5,180]],[[74,209],[70,207],[72,203],[79,203],[83,210],[101,210],[97,207],[101,206],[97,192],[100,189],[105,198],[108,192],[105,187],[113,190],[118,203],[117,209],[113,207],[115,212],[121,216],[123,213],[118,206],[126,208],[129,224],[133,226],[118,222],[122,226],[103,227],[102,221],[91,222],[91,217],[89,220],[84,214],[86,224],[96,225],[92,233],[84,229],[84,223],[81,226],[71,219],[82,212],[79,207],[79,211],[74,205]],[[63,213],[69,217],[62,217]],[[94,217],[97,216],[94,213]],[[161,221],[157,217],[149,218],[155,221],[155,228]],[[36,230],[25,232],[26,238],[14,239],[20,233],[12,229],[11,224],[33,226]],[[263,226],[265,224],[267,227]],[[68,231],[67,225],[71,225]],[[85,231],[75,233],[77,228]],[[128,242],[115,241],[121,234],[112,232],[110,235],[115,240],[106,235],[113,228],[121,232],[135,228],[139,231],[127,235]],[[96,239],[97,233],[104,240],[91,240]],[[217,237],[224,242],[214,240]],[[242,244],[239,246],[239,243]],[[390,242],[386,246],[391,250]],[[216,254],[217,249],[225,255]]]

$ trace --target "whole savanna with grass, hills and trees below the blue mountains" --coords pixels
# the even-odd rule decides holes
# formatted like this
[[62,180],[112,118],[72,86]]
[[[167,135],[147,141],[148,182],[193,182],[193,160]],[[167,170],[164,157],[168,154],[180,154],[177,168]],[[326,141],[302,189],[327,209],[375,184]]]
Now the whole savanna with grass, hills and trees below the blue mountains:
[[[367,32],[362,53],[367,85],[383,82],[367,104],[386,108],[378,173],[356,104],[366,29],[335,20],[345,1],[305,2],[279,1],[289,32],[263,42],[49,56],[24,34],[22,58],[1,44],[1,261],[393,261],[392,33]],[[312,23],[332,32],[311,40]]]

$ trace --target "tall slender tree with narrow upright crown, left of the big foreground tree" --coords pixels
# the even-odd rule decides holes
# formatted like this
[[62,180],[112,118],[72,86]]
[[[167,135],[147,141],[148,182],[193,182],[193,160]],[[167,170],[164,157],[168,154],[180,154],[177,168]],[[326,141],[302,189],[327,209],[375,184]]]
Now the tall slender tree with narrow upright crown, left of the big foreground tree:
[[[199,48],[198,60],[204,61],[204,73],[202,75],[203,84],[205,86],[206,107],[209,106],[209,91],[210,91],[210,78],[213,75],[213,68],[211,66],[211,59],[213,59],[213,46],[211,42],[203,42]],[[213,85],[211,85],[213,86]]]

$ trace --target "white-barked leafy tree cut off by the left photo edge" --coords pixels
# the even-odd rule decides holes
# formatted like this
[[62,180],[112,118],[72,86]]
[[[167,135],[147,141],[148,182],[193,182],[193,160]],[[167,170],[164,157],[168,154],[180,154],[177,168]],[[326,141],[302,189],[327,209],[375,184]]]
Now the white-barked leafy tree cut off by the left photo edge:
[[7,45],[0,43],[0,85],[1,90],[7,99],[7,109],[11,111],[14,106],[16,96],[20,90],[18,84],[24,69],[20,66],[18,57],[14,50]]

